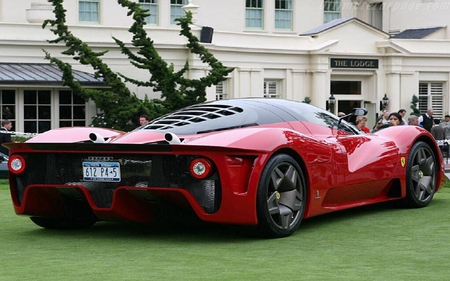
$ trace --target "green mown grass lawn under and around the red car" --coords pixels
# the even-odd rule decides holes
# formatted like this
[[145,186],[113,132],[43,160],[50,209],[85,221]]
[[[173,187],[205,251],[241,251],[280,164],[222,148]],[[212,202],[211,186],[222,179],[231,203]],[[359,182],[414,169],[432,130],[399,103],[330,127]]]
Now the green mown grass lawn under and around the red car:
[[0,181],[0,280],[448,280],[449,187],[426,208],[367,206],[263,240],[225,225],[45,230]]

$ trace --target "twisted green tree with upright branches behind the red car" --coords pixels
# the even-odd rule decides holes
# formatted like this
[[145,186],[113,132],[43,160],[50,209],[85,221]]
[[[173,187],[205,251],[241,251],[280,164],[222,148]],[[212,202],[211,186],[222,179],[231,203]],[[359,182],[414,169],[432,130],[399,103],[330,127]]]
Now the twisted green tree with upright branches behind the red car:
[[[47,51],[44,51],[45,58],[61,69],[63,85],[70,87],[75,94],[86,100],[92,99],[96,106],[102,110],[102,114],[94,118],[92,122],[94,126],[130,130],[136,126],[131,121],[137,122],[141,114],[147,114],[150,118],[155,118],[184,106],[204,102],[206,100],[206,88],[224,81],[228,73],[233,70],[223,66],[192,34],[190,29],[192,14],[188,12],[185,17],[177,19],[177,24],[181,26],[180,35],[188,39],[187,48],[190,52],[198,55],[201,61],[208,64],[210,68],[205,77],[200,79],[186,78],[185,76],[189,71],[187,61],[182,69],[176,71],[173,64],[168,65],[158,54],[152,39],[144,29],[145,18],[149,15],[147,11],[141,9],[136,2],[117,0],[118,4],[128,9],[128,16],[133,17],[134,23],[128,31],[133,34],[131,43],[138,48],[138,51],[133,53],[125,46],[124,42],[115,37],[113,39],[135,67],[148,70],[150,78],[148,81],[139,81],[116,73],[101,58],[107,51],[94,52],[86,43],[69,31],[65,24],[67,11],[62,5],[63,1],[50,0],[54,6],[55,19],[46,20],[43,23],[43,28],[50,24],[52,26],[50,30],[57,38],[48,40],[48,42],[65,43],[68,49],[63,51],[62,54],[71,56],[83,65],[90,65],[94,69],[95,77],[102,78],[110,89],[86,89],[75,81],[69,63],[52,57]],[[140,87],[152,87],[155,92],[161,92],[161,99],[149,100],[145,97],[141,100],[134,93],[131,93],[126,87],[126,82],[131,82]]]

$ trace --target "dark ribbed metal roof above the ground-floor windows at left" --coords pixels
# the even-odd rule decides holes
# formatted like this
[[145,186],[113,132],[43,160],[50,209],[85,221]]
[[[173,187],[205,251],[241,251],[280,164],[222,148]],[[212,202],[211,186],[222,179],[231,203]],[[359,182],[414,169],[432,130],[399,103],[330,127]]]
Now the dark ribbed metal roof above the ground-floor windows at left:
[[[105,86],[94,75],[73,70],[75,80],[82,85]],[[62,85],[62,71],[49,63],[0,63],[0,84]]]

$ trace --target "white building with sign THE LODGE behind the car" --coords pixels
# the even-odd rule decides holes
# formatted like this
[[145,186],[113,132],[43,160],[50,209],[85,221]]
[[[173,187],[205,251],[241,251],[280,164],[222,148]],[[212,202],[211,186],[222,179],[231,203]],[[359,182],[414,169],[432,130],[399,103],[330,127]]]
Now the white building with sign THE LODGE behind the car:
[[[190,55],[174,19],[193,11],[194,30],[226,66],[227,81],[208,89],[208,99],[281,97],[327,107],[369,109],[369,124],[380,111],[409,112],[413,95],[419,108],[450,111],[450,2],[442,0],[136,0],[151,11],[148,34],[161,56],[177,67],[188,60],[189,76],[206,73]],[[66,0],[67,25],[97,51],[109,50],[105,62],[141,80],[148,73],[129,64],[112,36],[129,42],[132,20],[114,0]],[[96,113],[63,87],[43,49],[70,62],[86,86],[101,87],[89,67],[61,55],[63,45],[42,28],[53,18],[45,0],[0,0],[0,113],[17,131],[43,132],[61,126],[89,125]],[[202,29],[203,27],[203,29]],[[212,29],[211,29],[212,28]],[[203,31],[202,31],[203,30]],[[213,32],[208,32],[213,31]],[[83,80],[85,79],[85,80]],[[130,88],[138,96],[158,97],[148,88]]]

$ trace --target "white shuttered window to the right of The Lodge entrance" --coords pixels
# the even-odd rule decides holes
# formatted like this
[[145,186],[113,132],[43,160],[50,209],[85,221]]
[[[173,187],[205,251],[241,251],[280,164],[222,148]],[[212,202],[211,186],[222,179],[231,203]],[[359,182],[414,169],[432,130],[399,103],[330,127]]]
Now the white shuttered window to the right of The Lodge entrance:
[[433,116],[444,116],[444,85],[440,82],[419,83],[419,110],[425,113],[428,109],[434,110]]

